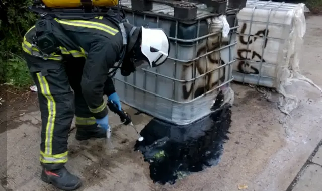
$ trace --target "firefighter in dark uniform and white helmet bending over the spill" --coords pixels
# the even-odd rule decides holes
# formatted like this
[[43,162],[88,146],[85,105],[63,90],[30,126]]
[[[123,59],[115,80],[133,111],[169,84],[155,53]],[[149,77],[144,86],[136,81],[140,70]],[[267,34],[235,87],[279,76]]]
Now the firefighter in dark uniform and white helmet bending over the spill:
[[121,110],[112,81],[115,70],[128,76],[161,65],[169,54],[169,39],[162,29],[117,23],[108,16],[47,17],[25,34],[22,47],[38,88],[41,179],[62,190],[77,189],[81,179],[64,167],[74,115],[77,140],[106,137],[109,123],[103,94]]

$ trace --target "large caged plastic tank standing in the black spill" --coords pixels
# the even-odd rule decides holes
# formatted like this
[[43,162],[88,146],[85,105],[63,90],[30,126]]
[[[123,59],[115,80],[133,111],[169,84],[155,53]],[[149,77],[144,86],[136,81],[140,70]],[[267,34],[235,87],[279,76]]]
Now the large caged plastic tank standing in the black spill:
[[[131,8],[131,1],[120,2]],[[214,18],[203,4],[198,5],[197,19],[188,23],[160,16],[173,16],[174,10],[158,3],[153,3],[152,12],[125,12],[135,26],[162,28],[170,37],[171,51],[167,61],[157,68],[138,70],[127,77],[118,72],[114,79],[121,101],[178,125],[208,115],[220,90],[225,94],[224,102],[231,103],[229,82],[233,80],[237,11],[230,11],[232,28],[226,38],[222,38],[222,18]]]

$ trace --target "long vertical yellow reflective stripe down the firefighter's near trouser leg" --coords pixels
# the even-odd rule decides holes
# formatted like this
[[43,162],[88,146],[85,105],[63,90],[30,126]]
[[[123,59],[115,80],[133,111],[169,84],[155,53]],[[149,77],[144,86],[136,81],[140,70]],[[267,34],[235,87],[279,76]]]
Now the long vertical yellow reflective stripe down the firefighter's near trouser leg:
[[48,107],[48,118],[46,125],[46,139],[45,139],[45,154],[52,154],[52,138],[54,132],[54,124],[56,119],[56,102],[52,97],[49,89],[49,84],[45,78],[45,76],[37,73],[37,78],[40,84],[40,92],[47,99],[47,107]]

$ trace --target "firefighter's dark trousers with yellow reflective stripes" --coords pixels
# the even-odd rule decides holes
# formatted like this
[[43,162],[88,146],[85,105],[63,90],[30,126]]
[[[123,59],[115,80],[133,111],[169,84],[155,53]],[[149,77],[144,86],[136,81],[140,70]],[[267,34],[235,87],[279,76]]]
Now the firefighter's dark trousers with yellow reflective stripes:
[[38,89],[42,121],[40,163],[47,170],[59,169],[68,160],[67,140],[74,115],[77,129],[97,127],[81,89],[85,58],[62,62],[26,53],[24,56]]

